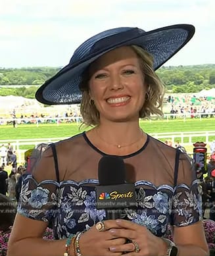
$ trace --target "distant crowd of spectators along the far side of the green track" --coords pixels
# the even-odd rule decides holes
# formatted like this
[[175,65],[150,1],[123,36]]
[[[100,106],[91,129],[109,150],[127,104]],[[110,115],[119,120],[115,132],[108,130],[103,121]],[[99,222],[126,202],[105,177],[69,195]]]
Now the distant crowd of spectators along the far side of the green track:
[[[64,111],[52,111],[47,114],[44,111],[34,112],[31,114],[20,113],[18,109],[14,109],[10,116],[10,120],[5,120],[5,116],[0,113],[0,125],[1,124],[12,124],[16,128],[16,124],[32,124],[36,122],[80,122],[82,115],[80,113],[79,105],[75,109],[68,109],[65,106]],[[16,114],[20,113],[20,114]],[[191,94],[178,94],[178,95],[167,95],[164,99],[164,114],[172,114],[170,118],[190,117],[195,118],[201,117],[214,117],[215,116],[215,97],[204,97],[199,95]]]

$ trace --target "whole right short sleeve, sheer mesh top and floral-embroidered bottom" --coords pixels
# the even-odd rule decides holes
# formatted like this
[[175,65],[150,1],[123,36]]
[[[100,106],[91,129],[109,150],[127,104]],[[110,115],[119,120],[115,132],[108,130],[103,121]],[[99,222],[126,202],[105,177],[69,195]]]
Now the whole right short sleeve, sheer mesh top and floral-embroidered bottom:
[[199,182],[195,178],[189,157],[181,153],[178,166],[178,182],[174,188],[171,224],[188,226],[202,219],[202,200]]

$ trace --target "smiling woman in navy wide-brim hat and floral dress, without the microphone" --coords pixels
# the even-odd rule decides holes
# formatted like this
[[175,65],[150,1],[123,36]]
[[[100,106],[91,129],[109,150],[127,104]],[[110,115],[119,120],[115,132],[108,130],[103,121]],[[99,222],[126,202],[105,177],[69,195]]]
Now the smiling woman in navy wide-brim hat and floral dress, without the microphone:
[[[46,104],[81,100],[84,124],[94,128],[53,144],[24,180],[9,256],[208,255],[189,159],[139,127],[140,117],[162,115],[155,70],[193,33],[184,24],[101,32],[37,91]],[[126,181],[135,182],[136,207],[124,209],[124,219],[103,221],[95,206],[105,155],[123,159]],[[50,222],[54,242],[42,239]],[[169,223],[174,243],[162,238]]]

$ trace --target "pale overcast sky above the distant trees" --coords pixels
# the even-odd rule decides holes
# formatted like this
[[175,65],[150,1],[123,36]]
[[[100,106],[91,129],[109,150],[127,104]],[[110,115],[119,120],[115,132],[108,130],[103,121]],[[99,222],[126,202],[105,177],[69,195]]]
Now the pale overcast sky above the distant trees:
[[118,26],[193,24],[165,65],[215,63],[215,0],[0,0],[0,67],[64,66],[80,43]]

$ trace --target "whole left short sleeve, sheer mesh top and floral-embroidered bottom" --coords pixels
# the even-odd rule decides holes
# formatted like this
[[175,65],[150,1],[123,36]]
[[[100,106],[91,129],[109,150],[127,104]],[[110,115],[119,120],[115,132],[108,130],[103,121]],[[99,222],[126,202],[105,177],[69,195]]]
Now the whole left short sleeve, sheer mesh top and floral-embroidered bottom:
[[18,213],[28,218],[50,222],[57,211],[58,188],[53,154],[48,148],[34,165],[32,174],[22,178]]

